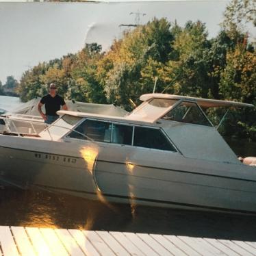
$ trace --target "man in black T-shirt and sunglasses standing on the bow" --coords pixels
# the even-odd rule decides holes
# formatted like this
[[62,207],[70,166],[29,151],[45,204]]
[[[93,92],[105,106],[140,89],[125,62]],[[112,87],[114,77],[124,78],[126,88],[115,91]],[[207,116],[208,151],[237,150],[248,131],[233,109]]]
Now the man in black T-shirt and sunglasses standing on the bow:
[[[44,119],[44,123],[51,124],[59,116],[57,115],[57,111],[60,110],[60,107],[62,106],[63,110],[68,110],[68,107],[66,106],[66,103],[62,97],[60,97],[59,94],[56,92],[57,87],[55,84],[51,83],[49,86],[49,94],[42,97],[40,100],[40,103],[38,103],[38,111],[42,118]],[[45,114],[42,112],[42,105],[45,104]]]

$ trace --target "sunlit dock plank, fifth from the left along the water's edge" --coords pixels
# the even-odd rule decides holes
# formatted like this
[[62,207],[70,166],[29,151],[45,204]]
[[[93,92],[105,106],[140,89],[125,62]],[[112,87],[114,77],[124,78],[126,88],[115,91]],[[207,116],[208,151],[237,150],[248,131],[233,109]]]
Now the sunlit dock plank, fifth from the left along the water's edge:
[[55,229],[55,233],[57,237],[60,238],[62,243],[64,244],[66,251],[72,256],[80,256],[85,255],[85,253],[81,250],[77,242],[75,242],[75,238],[68,232],[67,229]]

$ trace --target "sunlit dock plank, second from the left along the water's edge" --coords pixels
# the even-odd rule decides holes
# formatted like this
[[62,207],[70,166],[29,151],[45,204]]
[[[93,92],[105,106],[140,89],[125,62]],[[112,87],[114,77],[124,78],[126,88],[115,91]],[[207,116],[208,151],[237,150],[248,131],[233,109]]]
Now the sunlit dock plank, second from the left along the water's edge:
[[24,227],[11,227],[12,233],[14,235],[16,244],[18,246],[21,255],[33,256],[36,254]]

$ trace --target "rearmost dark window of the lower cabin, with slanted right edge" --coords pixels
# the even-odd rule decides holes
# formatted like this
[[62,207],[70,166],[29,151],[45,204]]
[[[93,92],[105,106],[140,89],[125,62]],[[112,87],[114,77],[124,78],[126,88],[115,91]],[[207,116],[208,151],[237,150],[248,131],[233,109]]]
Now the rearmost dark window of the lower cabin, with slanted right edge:
[[135,127],[133,146],[142,146],[150,149],[176,151],[160,129]]

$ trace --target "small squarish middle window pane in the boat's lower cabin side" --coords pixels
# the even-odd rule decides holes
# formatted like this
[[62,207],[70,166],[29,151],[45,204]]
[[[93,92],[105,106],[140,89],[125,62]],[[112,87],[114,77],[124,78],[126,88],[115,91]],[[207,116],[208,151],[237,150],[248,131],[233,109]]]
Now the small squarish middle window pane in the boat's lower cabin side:
[[113,124],[112,142],[131,145],[133,127],[128,125]]

